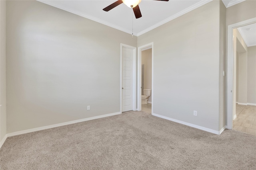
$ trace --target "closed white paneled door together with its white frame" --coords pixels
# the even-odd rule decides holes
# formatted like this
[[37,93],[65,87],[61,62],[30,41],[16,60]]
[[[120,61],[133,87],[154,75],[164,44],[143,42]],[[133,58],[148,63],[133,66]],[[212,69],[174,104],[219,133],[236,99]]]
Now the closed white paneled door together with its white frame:
[[121,44],[120,112],[136,110],[136,47]]

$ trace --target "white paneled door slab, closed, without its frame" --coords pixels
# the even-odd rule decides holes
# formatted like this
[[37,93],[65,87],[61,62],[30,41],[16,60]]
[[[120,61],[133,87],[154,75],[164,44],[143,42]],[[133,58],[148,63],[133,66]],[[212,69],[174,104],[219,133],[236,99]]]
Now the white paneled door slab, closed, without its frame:
[[122,112],[133,109],[133,49],[122,47]]

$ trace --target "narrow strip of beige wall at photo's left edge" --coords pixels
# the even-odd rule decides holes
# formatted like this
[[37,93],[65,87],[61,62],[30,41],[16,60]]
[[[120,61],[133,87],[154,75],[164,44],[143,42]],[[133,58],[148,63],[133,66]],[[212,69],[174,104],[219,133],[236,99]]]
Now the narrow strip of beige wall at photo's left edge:
[[[0,141],[6,135],[6,1],[0,1]],[[1,143],[2,144],[2,143]]]

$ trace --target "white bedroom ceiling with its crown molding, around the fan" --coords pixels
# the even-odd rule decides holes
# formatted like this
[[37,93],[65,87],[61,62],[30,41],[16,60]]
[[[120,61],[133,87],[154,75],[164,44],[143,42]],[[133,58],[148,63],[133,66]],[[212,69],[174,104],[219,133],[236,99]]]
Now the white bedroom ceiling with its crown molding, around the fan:
[[[194,10],[212,0],[142,0],[139,4],[142,17],[136,19],[125,4],[105,12],[102,9],[116,0],[38,0],[84,18],[97,21],[136,36],[142,35],[170,20]],[[222,0],[226,7],[244,0]]]

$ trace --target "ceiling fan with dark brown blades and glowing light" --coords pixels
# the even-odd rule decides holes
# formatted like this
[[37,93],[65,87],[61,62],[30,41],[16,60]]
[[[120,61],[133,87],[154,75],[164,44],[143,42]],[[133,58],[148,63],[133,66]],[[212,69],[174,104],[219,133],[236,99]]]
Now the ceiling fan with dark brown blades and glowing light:
[[[160,1],[169,1],[169,0],[160,0]],[[139,5],[141,0],[118,0],[116,2],[114,2],[113,4],[107,6],[106,8],[104,8],[104,11],[109,11],[112,10],[113,8],[115,8],[116,6],[124,3],[126,4],[129,8],[133,9],[134,15],[136,18],[140,18],[142,17],[141,13],[140,13],[140,8]]]

